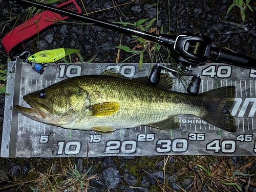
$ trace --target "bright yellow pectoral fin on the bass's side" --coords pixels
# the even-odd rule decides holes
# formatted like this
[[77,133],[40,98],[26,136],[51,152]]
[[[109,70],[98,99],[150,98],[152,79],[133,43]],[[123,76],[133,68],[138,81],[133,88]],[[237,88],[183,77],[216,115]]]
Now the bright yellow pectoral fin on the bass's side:
[[117,102],[105,102],[92,105],[89,110],[92,111],[92,116],[106,116],[113,115],[119,108],[120,105]]

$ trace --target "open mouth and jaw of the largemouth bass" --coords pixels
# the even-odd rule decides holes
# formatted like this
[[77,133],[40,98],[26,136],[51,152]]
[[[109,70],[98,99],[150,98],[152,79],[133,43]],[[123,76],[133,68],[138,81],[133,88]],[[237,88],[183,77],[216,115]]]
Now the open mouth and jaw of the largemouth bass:
[[46,118],[51,112],[50,108],[44,103],[31,101],[26,102],[31,106],[31,108],[23,107],[20,105],[15,106],[15,109],[25,116],[28,116],[30,118],[42,119]]

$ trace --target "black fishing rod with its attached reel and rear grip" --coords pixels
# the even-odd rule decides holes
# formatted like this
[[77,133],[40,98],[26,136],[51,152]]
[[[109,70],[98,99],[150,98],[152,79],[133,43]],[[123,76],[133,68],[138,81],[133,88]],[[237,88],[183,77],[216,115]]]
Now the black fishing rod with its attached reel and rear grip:
[[171,50],[171,56],[177,64],[175,68],[170,64],[168,67],[163,65],[155,65],[148,77],[148,82],[158,84],[162,68],[167,69],[174,75],[179,74],[186,76],[194,76],[189,84],[187,91],[191,94],[197,94],[201,82],[200,76],[193,74],[195,67],[205,64],[209,60],[215,60],[221,63],[231,64],[248,69],[256,69],[256,60],[244,55],[233,53],[219,47],[212,47],[212,39],[200,33],[183,33],[178,36],[166,34],[153,34],[129,27],[117,25],[115,23],[85,16],[72,11],[63,10],[46,4],[33,2],[29,0],[17,0],[17,3],[26,6],[34,6],[39,9],[49,10],[61,15],[69,16],[72,19],[82,22],[92,23],[96,26],[110,29],[115,32],[135,35],[144,39],[154,41],[160,45],[168,47]]

